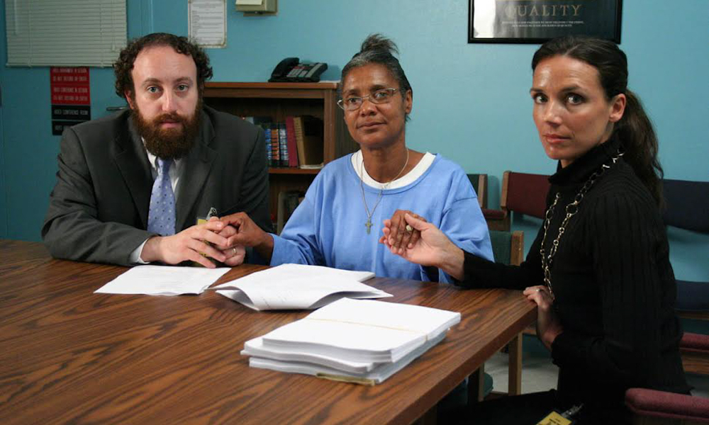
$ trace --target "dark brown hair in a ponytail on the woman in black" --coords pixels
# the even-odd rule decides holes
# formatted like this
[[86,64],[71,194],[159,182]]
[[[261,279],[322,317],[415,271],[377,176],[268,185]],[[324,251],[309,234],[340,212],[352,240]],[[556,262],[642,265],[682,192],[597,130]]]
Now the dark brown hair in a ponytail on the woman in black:
[[625,94],[623,118],[615,123],[613,135],[623,143],[623,159],[632,166],[640,181],[648,188],[657,205],[662,205],[662,166],[657,159],[657,135],[642,108],[640,98],[627,89],[627,57],[614,42],[598,38],[569,35],[545,42],[532,58],[532,71],[539,62],[563,55],[586,62],[598,69],[601,86],[608,101]]

